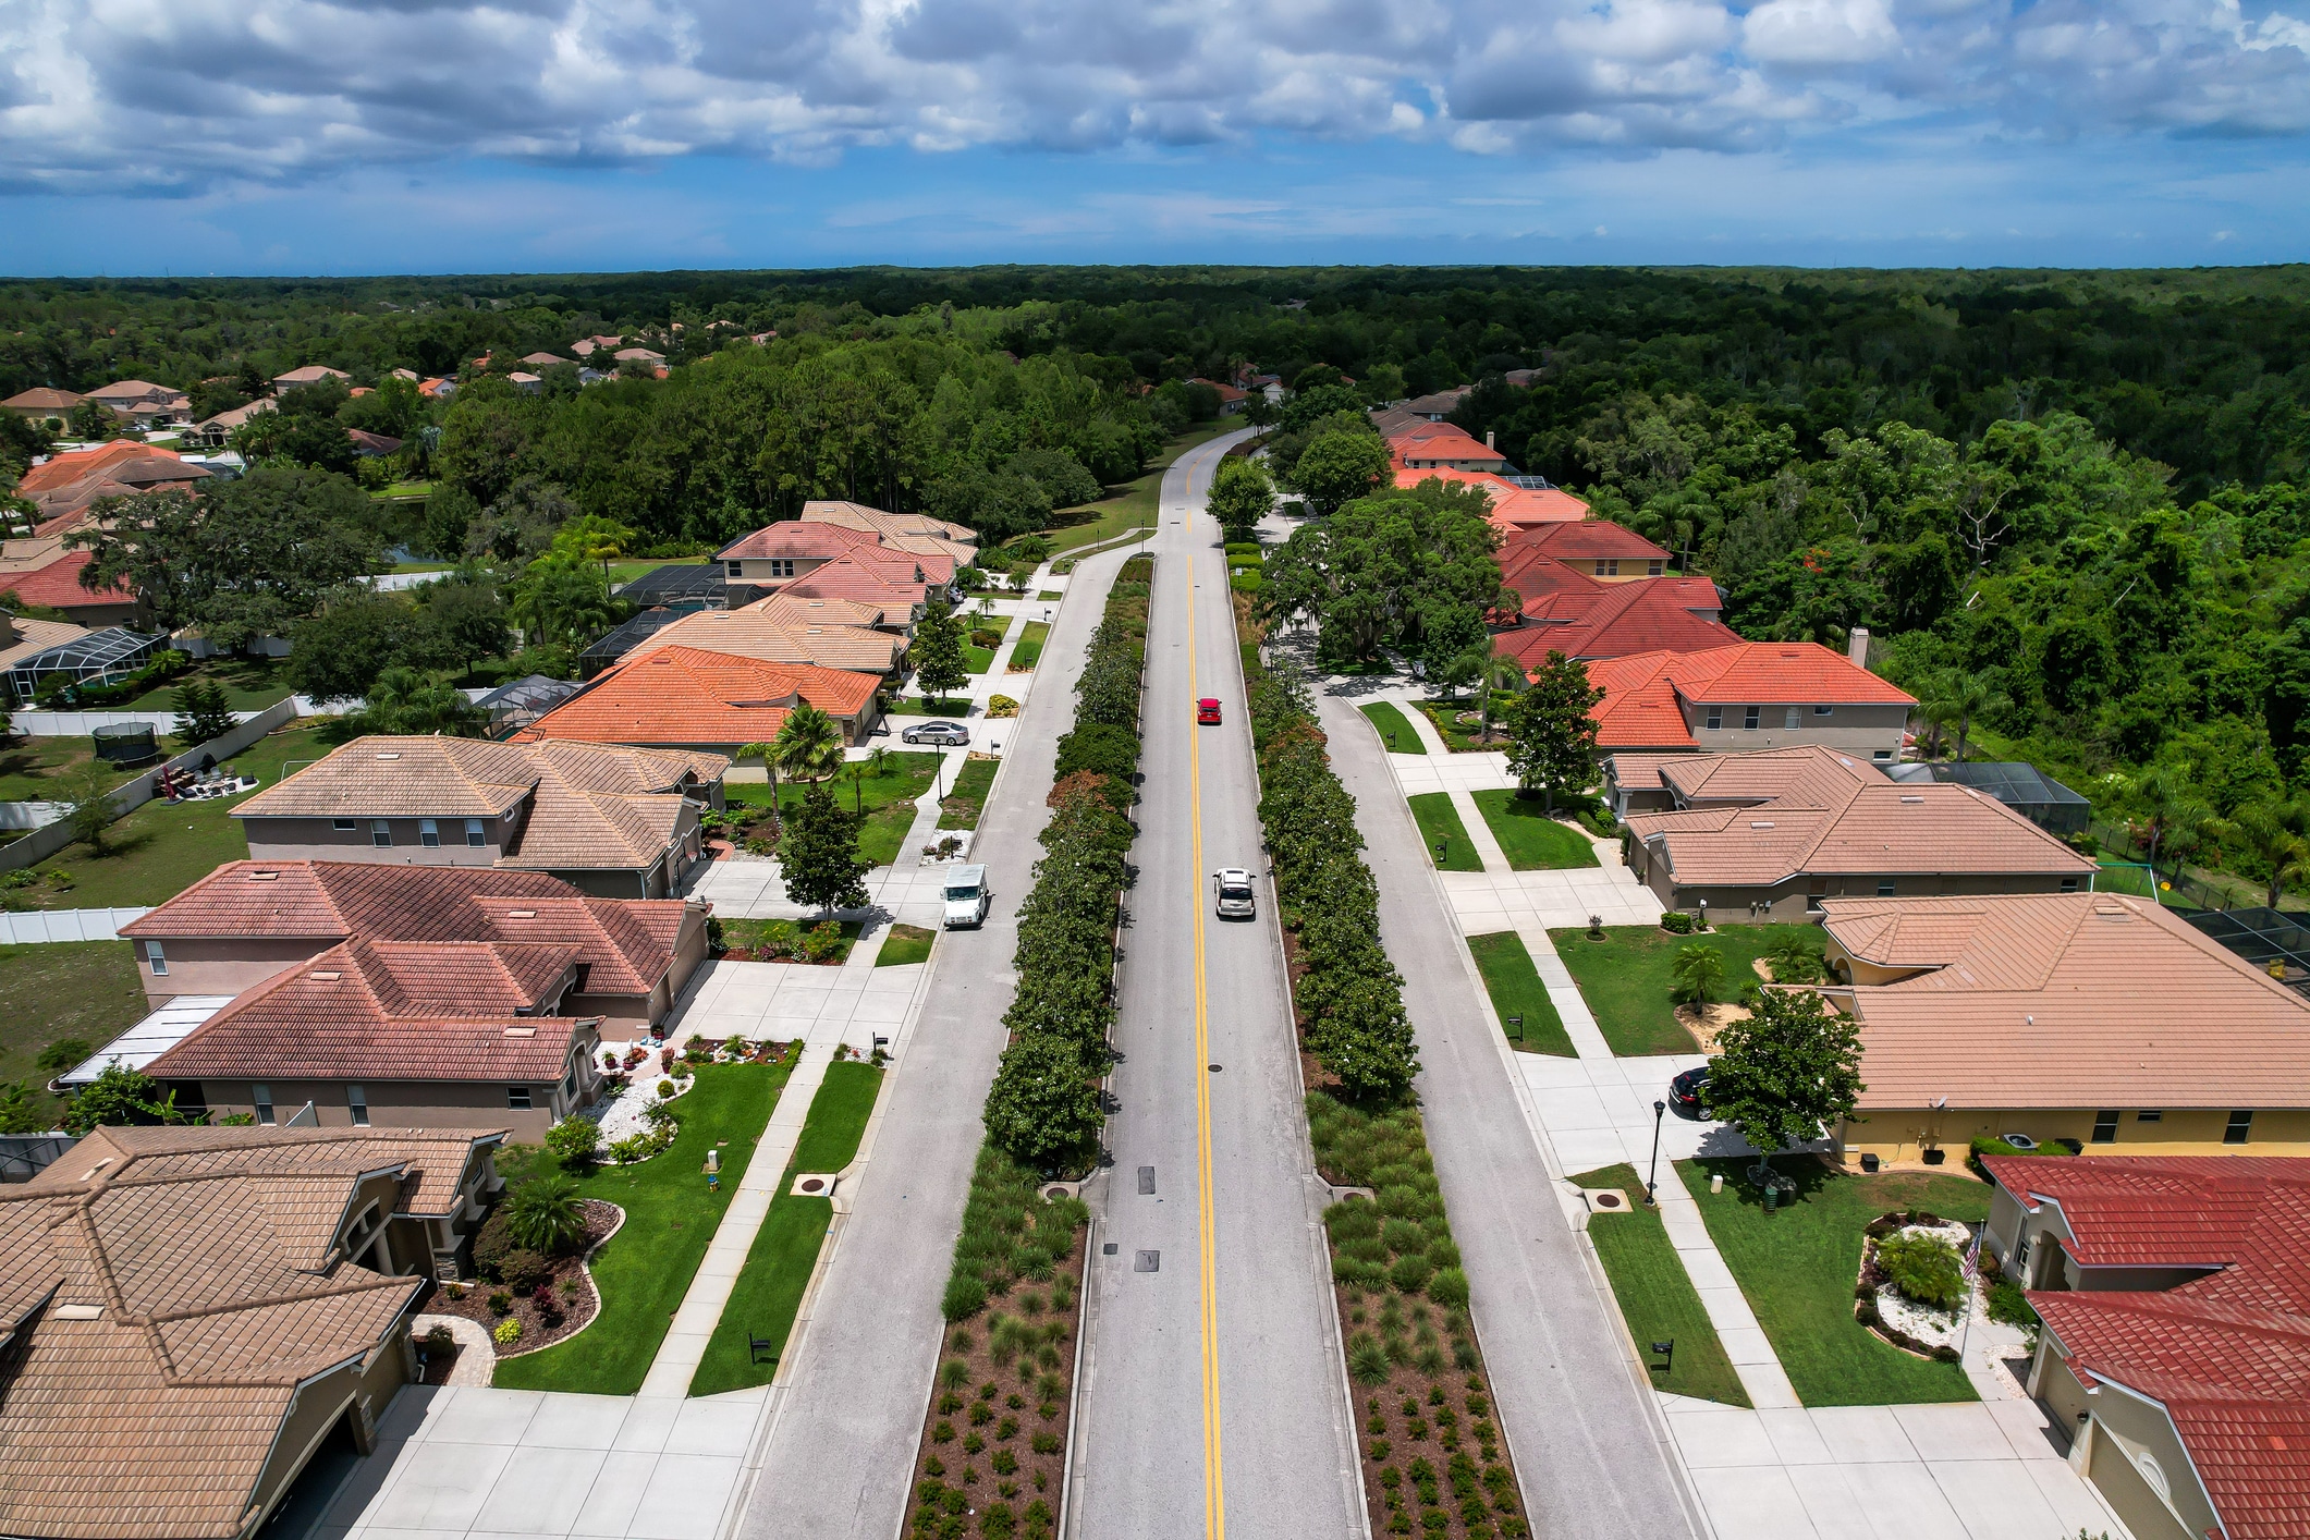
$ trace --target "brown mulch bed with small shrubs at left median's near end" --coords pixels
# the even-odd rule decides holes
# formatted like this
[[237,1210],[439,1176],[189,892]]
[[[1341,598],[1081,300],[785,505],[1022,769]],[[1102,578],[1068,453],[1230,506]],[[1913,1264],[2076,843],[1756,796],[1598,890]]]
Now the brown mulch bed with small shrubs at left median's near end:
[[938,1540],[1058,1533],[1086,1238],[1088,1231],[1074,1233],[1049,1281],[1012,1284],[984,1311],[947,1328],[906,1533]]

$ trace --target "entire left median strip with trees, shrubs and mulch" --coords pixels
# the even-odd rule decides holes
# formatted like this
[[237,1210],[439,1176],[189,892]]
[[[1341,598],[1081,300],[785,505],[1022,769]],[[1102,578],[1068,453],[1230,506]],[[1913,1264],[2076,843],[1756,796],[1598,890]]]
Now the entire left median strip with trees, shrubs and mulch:
[[1019,993],[986,1092],[986,1143],[947,1279],[947,1335],[924,1411],[908,1533],[1051,1540],[1058,1533],[1081,1330],[1083,1226],[1040,1173],[1083,1175],[1106,1113],[1116,926],[1134,829],[1155,559],[1132,556],[1106,593],[1058,741],[1044,854],[1019,905]]

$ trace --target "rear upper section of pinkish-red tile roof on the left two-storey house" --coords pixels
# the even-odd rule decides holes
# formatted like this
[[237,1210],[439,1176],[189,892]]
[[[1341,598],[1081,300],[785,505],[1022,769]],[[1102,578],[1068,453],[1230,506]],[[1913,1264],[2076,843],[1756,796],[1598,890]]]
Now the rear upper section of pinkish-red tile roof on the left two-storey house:
[[120,935],[566,947],[589,965],[589,995],[647,995],[675,963],[688,910],[494,866],[226,861]]

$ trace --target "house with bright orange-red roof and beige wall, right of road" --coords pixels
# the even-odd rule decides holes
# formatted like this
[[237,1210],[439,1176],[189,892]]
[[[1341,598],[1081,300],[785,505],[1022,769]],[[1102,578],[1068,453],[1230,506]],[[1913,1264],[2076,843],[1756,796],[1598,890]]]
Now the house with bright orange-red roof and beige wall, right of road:
[[[1649,586],[1649,584],[1645,584]],[[1917,702],[1818,642],[1726,642],[1589,665],[1596,748],[1739,753],[1827,743],[1892,764]]]

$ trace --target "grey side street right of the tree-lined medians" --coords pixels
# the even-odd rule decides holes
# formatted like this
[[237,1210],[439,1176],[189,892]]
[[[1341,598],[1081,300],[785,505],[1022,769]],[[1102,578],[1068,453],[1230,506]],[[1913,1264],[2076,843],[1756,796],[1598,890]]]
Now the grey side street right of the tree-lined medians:
[[1356,794],[1379,930],[1418,1030],[1428,1147],[1467,1265],[1499,1422],[1550,1540],[1705,1533],[1668,1429],[1635,1378],[1585,1238],[1557,1208],[1508,1064],[1462,960],[1458,921],[1372,725],[1319,695],[1331,762]]

